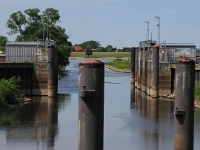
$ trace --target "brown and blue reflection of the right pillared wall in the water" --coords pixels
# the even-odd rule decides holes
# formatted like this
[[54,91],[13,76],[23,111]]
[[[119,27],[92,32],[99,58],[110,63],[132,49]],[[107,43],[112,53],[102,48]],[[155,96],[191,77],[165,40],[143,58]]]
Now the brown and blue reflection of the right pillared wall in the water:
[[140,136],[136,149],[173,149],[173,101],[152,98],[135,89],[133,84],[130,89],[130,108],[134,120],[140,122],[137,129],[132,130]]

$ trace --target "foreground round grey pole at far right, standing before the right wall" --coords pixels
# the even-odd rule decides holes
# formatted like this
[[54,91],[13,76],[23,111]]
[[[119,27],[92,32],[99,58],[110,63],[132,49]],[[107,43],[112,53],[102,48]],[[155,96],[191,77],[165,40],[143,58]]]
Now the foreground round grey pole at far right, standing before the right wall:
[[193,150],[195,61],[176,62],[174,150]]

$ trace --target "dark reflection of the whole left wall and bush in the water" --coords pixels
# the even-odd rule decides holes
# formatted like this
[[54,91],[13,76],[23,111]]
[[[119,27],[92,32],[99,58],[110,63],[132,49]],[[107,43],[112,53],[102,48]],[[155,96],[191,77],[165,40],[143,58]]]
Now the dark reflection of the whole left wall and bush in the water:
[[37,145],[53,149],[58,131],[57,99],[43,96],[33,97],[33,100],[34,103],[22,108],[1,112],[1,129],[5,129],[7,147],[18,145],[20,149],[28,149]]

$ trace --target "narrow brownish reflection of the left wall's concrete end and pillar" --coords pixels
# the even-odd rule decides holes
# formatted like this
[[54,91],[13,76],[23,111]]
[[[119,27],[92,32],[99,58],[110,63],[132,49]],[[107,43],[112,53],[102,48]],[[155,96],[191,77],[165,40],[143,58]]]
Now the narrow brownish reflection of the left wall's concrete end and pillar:
[[54,147],[58,123],[57,100],[43,96],[35,101],[39,103],[35,116],[37,141],[38,143],[45,142],[48,147]]

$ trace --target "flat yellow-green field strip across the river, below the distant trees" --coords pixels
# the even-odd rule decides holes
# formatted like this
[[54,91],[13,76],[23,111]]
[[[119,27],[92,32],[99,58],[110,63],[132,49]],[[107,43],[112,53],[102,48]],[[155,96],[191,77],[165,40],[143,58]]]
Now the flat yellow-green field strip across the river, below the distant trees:
[[[85,52],[71,52],[70,57],[87,58]],[[90,58],[130,58],[130,52],[93,52]]]

